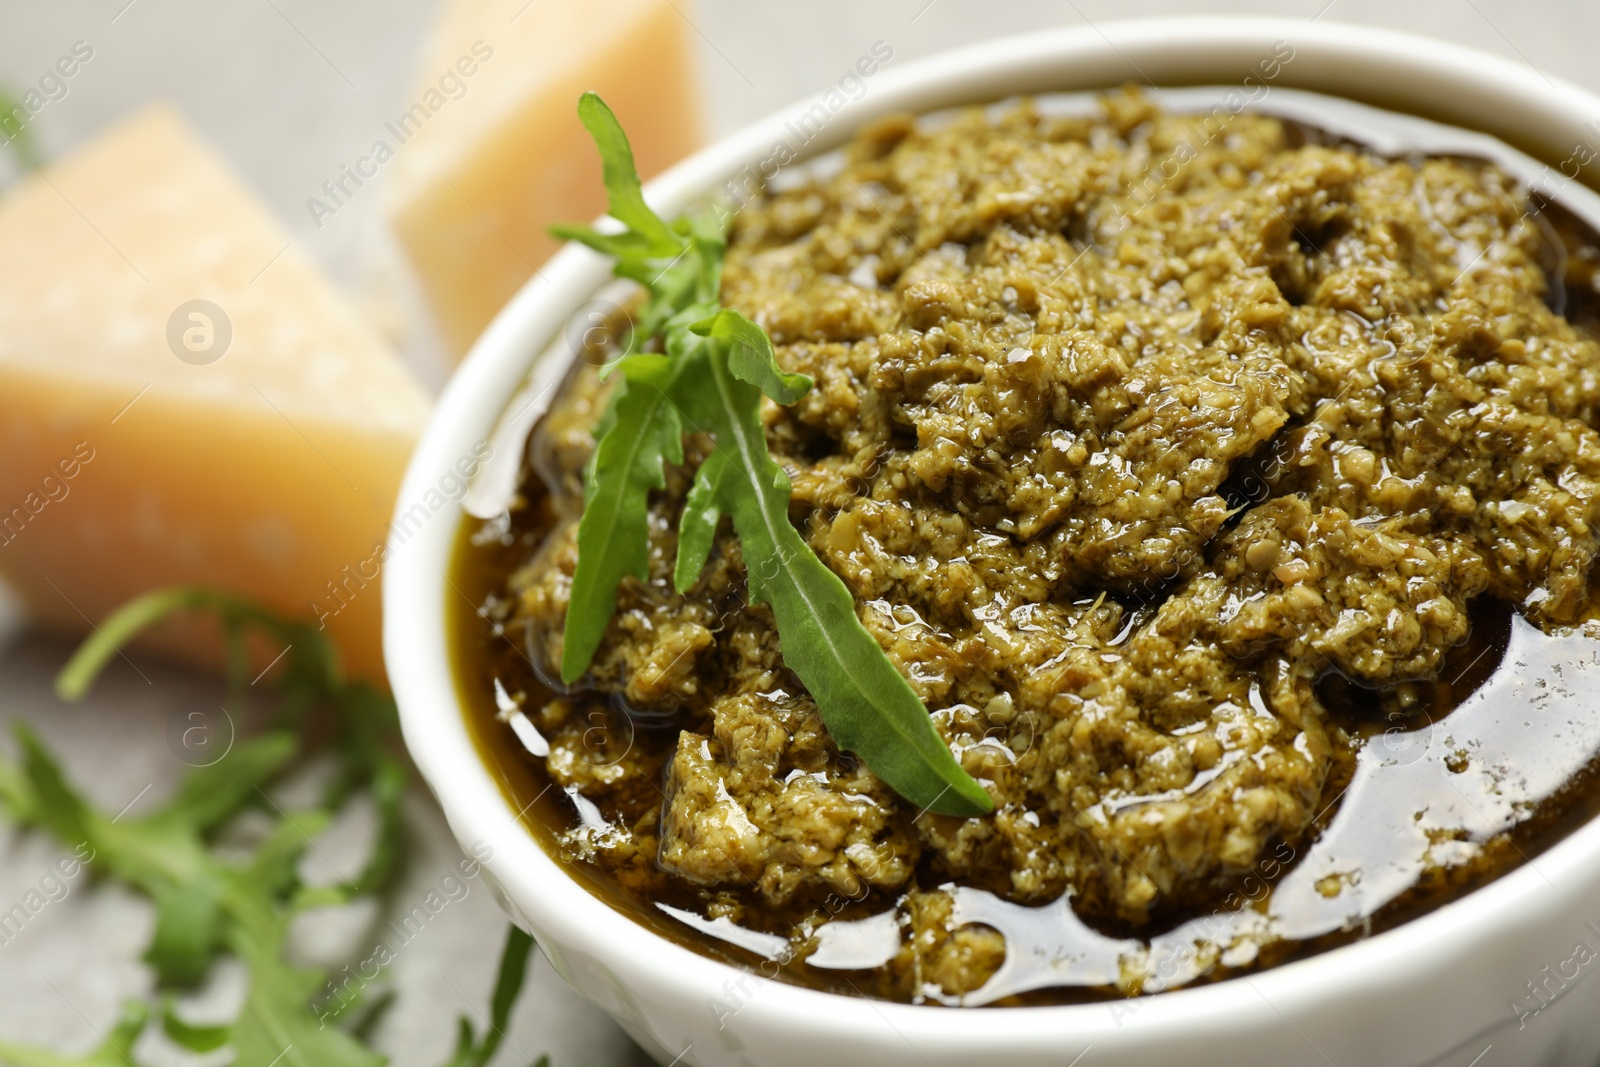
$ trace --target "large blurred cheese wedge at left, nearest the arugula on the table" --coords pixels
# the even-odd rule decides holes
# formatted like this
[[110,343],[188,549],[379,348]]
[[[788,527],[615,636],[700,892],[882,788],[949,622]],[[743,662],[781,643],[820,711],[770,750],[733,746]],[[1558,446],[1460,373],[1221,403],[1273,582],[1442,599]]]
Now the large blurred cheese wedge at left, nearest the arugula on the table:
[[[171,110],[0,197],[0,573],[46,624],[198,582],[320,617],[381,678],[374,552],[427,410]],[[221,649],[202,621],[154,641]]]

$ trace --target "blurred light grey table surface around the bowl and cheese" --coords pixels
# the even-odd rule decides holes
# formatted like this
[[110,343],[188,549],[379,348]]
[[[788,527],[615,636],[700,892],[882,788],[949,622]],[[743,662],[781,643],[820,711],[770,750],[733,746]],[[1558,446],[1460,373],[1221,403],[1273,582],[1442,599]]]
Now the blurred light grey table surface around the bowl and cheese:
[[[94,61],[35,120],[46,155],[70,150],[147,101],[176,102],[293,238],[384,323],[422,379],[438,387],[445,362],[427,323],[405,312],[416,307],[416,291],[378,216],[378,198],[354,202],[322,229],[304,210],[322,179],[406,99],[434,6],[435,0],[0,0],[0,85],[27,86],[74,42],[90,42]],[[1030,29],[1155,14],[1278,14],[1426,32],[1600,90],[1592,59],[1600,6],[1574,0],[677,0],[677,6],[693,27],[714,134],[827,86],[880,38],[904,61]],[[154,662],[141,661],[138,670],[118,664],[86,702],[66,707],[51,694],[51,678],[69,651],[69,641],[34,632],[0,601],[0,718],[35,723],[110,809],[154,805],[182,771],[165,742],[166,721],[211,683]],[[421,899],[459,856],[427,798],[413,797],[410,816],[413,853],[395,896],[398,910]],[[352,824],[358,822],[355,813]],[[358,835],[360,827],[346,830]],[[0,901],[19,899],[56,857],[38,837],[0,829]],[[309,952],[358,945],[371,918],[307,929],[302,941]],[[93,1045],[118,1001],[147,989],[139,952],[149,929],[141,899],[109,886],[75,886],[22,936],[0,945],[0,1035],[61,1048]],[[502,931],[488,893],[474,886],[405,947],[392,969],[397,1005],[376,1033],[397,1067],[446,1057],[454,1017],[486,1005]],[[646,1062],[542,958],[530,984],[498,1062],[526,1064],[546,1051],[555,1067]],[[224,973],[210,997],[226,1008],[235,993]]]

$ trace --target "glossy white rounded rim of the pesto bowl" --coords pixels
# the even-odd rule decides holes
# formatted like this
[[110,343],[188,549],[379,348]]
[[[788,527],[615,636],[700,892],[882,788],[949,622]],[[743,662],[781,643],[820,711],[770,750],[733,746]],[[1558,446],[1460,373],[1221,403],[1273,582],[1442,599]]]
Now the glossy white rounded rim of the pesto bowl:
[[[1536,142],[1541,158],[1554,158],[1550,154],[1563,146],[1563,138],[1570,144],[1579,122],[1573,115],[1600,118],[1600,96],[1587,90],[1509,59],[1427,37],[1333,21],[1181,16],[1005,37],[883,70],[864,98],[837,112],[816,142],[806,146],[805,155],[835,147],[864,122],[883,114],[1045,91],[1051,70],[1067,62],[1088,64],[1091,70],[1117,66],[1138,70],[1131,56],[1165,56],[1160,70],[1176,74],[1163,74],[1160,85],[1179,85],[1187,69],[1182,50],[1205,54],[1192,64],[1194,70],[1214,70],[1218,61],[1211,51],[1250,54],[1253,48],[1259,51],[1262,42],[1275,40],[1291,42],[1296,59],[1301,54],[1312,59],[1285,82],[1288,86],[1317,90],[1330,85],[1334,88],[1323,91],[1338,90],[1336,94],[1363,99],[1350,91],[1350,82],[1384,64],[1403,64],[1416,78],[1442,78],[1459,90],[1448,106],[1435,106],[1429,117],[1485,130],[1472,118],[1486,107],[1499,107],[1515,122],[1507,118],[1501,123],[1506,130],[1486,131],[1512,142]],[[1101,88],[1115,85],[1107,78]],[[1478,91],[1470,91],[1474,88]],[[648,200],[664,211],[680,210],[763,158],[784,139],[784,120],[821,101],[821,94],[800,101],[712,142],[651,181]],[[1459,114],[1440,114],[1451,109]],[[517,822],[517,813],[478,758],[456,696],[443,622],[459,509],[446,506],[410,536],[394,533],[402,530],[408,506],[434,490],[440,474],[472,442],[488,435],[506,398],[560,330],[565,315],[608,277],[606,261],[586,248],[568,246],[557,253],[501,310],[448,382],[398,494],[382,584],[384,654],[406,745],[418,768],[456,837],[462,843],[491,845],[493,856],[485,869],[506,888],[518,920],[555,945],[602,961],[621,984],[624,1000],[635,984],[640,989],[680,987],[693,990],[696,998],[712,998],[725,995],[726,981],[746,971],[642,928],[573,880]],[[1405,995],[1442,969],[1469,966],[1470,945],[1515,939],[1534,931],[1541,913],[1571,912],[1584,889],[1592,891],[1597,885],[1600,821],[1590,821],[1490,885],[1381,934],[1238,979],[1139,998],[1139,1025],[1130,1030],[1115,1011],[1107,1011],[1109,1003],[1126,1001],[950,1009],[845,997],[766,979],[762,979],[760,995],[741,1006],[741,1014],[749,1013],[752,1024],[789,1032],[814,1030],[816,1021],[826,1019],[826,1029],[838,1040],[882,1037],[885,1022],[901,1037],[914,1032],[928,1043],[960,1043],[978,1033],[982,1045],[962,1048],[989,1051],[998,1048],[997,1041],[1030,1046],[1054,1041],[1059,1046],[1064,1033],[1074,1041],[1120,1041],[1128,1048],[1152,1048],[1173,1035],[1238,1035],[1288,1022],[1296,1013],[1326,1001],[1331,990],[1370,1003]],[[1003,1038],[998,1027],[986,1025],[1002,1016]],[[1486,1029],[1491,1021],[1482,1019],[1478,1025]]]

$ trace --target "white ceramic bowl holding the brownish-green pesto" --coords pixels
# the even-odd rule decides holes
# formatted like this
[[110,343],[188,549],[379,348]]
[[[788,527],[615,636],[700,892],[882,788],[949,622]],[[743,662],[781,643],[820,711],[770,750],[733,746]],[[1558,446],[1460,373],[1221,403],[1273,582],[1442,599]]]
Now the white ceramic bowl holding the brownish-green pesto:
[[[1272,86],[1318,90],[1501,136],[1542,160],[1600,155],[1600,98],[1526,66],[1328,22],[1160,19],[1050,30],[891,64],[806,146],[878,115],[1125,82],[1238,85],[1293,48]],[[1258,74],[1259,82],[1259,74]],[[805,101],[720,141],[648,189],[666,214],[792,142]],[[1574,149],[1584,146],[1584,152]],[[470,454],[608,264],[570,248],[501,312],[445,390],[406,472],[400,510]],[[662,1064],[723,1067],[1066,1067],[1181,1062],[1594,1067],[1600,1061],[1600,822],[1477,893],[1381,936],[1261,974],[1122,1005],[933,1008],[760,977],[637,926],[571,880],[517,824],[474,750],[451,680],[446,582],[459,520],[445,507],[390,544],[384,651],[406,744],[456,837],[488,845],[502,902],[584,997]],[[1590,925],[1594,923],[1594,925]],[[1579,945],[1582,950],[1579,950]],[[488,950],[488,949],[485,949]],[[1538,993],[1534,990],[1539,990]],[[738,1005],[718,1024],[712,1001]],[[1538,1013],[1533,1008],[1547,1003]],[[1082,1056],[1080,1059],[1075,1059]]]

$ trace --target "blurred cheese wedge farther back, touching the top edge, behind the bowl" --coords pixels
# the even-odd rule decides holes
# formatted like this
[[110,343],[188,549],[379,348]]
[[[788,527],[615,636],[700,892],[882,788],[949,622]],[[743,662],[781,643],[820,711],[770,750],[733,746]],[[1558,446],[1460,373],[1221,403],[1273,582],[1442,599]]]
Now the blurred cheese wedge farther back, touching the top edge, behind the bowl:
[[645,178],[699,146],[688,32],[672,0],[446,3],[416,99],[389,123],[387,203],[456,355],[555,251],[552,222],[605,211],[584,90],[622,120]]

